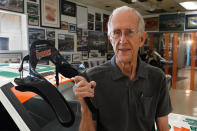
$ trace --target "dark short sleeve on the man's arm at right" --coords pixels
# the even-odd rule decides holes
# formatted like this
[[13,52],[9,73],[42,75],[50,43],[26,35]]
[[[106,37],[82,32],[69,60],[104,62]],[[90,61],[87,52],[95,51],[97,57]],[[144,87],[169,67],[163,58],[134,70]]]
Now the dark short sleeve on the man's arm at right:
[[169,95],[169,90],[166,86],[166,78],[164,76],[161,89],[159,91],[159,98],[156,109],[156,117],[168,115],[172,111],[172,105]]

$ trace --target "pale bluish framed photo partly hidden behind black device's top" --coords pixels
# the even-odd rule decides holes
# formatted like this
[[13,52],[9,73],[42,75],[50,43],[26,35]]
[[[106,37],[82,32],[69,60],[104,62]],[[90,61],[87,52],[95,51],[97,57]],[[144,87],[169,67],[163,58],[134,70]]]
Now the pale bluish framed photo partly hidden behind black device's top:
[[29,28],[29,44],[31,45],[36,40],[45,40],[45,29]]

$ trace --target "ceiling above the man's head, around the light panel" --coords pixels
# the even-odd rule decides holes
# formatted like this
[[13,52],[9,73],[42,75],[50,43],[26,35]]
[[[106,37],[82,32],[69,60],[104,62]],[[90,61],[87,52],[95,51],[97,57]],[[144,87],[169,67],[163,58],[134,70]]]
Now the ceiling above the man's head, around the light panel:
[[[132,1],[132,0],[73,0],[78,3],[82,3],[84,5],[90,5],[97,8],[101,8],[107,11],[112,11],[114,8],[127,5],[133,8],[136,8],[142,15],[153,15],[153,14],[161,14],[162,12],[157,12],[161,9],[166,12],[163,13],[173,13],[173,12],[185,12],[186,10],[178,4],[180,1],[188,1],[188,0],[144,0],[146,2],[139,2],[143,0],[137,0],[137,2],[126,3],[123,1]],[[196,1],[196,0],[194,0]],[[110,7],[106,7],[110,6]],[[152,11],[152,12],[151,12]]]

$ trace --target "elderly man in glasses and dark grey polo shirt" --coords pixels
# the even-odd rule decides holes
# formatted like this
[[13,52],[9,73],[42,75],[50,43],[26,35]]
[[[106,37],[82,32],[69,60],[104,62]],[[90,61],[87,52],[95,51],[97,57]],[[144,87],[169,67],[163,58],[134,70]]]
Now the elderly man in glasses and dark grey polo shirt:
[[[171,102],[164,73],[140,60],[144,20],[133,8],[113,11],[108,38],[115,56],[75,77],[73,91],[81,104],[80,131],[167,131]],[[83,98],[90,97],[99,117],[92,119]],[[96,128],[98,127],[99,128]]]

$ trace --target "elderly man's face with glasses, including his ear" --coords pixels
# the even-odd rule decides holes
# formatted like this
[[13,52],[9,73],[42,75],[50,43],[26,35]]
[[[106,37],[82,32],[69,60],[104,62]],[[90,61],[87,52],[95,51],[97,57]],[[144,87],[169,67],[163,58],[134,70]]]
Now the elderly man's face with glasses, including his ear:
[[112,35],[108,37],[116,54],[116,62],[126,64],[136,60],[138,49],[146,38],[145,32],[139,35],[138,23],[135,12],[121,11],[112,17]]

